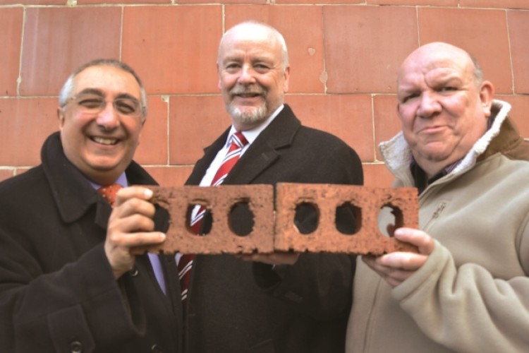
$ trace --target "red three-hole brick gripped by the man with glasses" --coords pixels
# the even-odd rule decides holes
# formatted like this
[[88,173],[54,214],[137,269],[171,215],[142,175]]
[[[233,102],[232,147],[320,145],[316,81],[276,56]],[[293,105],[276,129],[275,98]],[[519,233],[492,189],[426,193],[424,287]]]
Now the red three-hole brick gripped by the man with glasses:
[[[164,253],[271,253],[274,250],[272,185],[157,187],[153,202],[169,210],[171,226],[163,245]],[[231,231],[230,210],[236,203],[248,202],[255,225],[244,237]],[[211,210],[213,223],[209,234],[198,236],[188,227],[188,209],[202,205]]]

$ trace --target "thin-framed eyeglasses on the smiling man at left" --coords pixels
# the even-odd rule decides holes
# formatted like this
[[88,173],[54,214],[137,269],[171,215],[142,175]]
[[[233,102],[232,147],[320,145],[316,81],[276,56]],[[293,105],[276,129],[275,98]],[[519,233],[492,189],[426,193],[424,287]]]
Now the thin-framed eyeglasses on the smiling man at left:
[[[99,114],[107,107],[107,100],[100,95],[83,94],[71,97],[75,107],[86,114]],[[112,101],[116,112],[124,116],[138,117],[142,114],[142,106],[138,100],[130,97],[118,97]]]

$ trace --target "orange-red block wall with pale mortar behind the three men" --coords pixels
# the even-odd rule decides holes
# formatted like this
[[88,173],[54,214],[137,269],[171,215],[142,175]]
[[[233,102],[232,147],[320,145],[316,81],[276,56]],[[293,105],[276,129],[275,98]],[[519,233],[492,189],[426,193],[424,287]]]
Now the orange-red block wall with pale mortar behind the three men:
[[39,163],[73,68],[112,57],[133,66],[149,94],[136,160],[181,185],[229,125],[217,44],[248,19],[284,34],[286,102],[357,150],[366,185],[391,181],[376,145],[399,131],[396,72],[420,44],[451,42],[476,56],[529,137],[529,0],[0,0],[0,180]]

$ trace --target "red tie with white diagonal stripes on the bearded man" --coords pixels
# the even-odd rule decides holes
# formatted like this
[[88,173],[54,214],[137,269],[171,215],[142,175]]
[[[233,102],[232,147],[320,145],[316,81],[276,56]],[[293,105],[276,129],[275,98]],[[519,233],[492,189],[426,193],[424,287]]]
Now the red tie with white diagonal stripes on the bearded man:
[[[230,172],[231,168],[236,164],[239,157],[241,157],[241,152],[245,145],[248,144],[248,140],[244,137],[241,131],[234,133],[231,136],[231,145],[226,153],[226,157],[222,160],[221,166],[215,176],[213,177],[211,186],[217,186],[222,184],[226,176]],[[202,227],[202,218],[206,213],[206,208],[200,206],[199,210],[195,216],[190,220],[191,229],[196,234],[200,234],[200,228]],[[188,297],[188,287],[189,280],[191,277],[191,267],[193,266],[193,254],[183,254],[178,261],[178,277],[180,278],[180,284],[182,287],[182,300],[186,300]]]

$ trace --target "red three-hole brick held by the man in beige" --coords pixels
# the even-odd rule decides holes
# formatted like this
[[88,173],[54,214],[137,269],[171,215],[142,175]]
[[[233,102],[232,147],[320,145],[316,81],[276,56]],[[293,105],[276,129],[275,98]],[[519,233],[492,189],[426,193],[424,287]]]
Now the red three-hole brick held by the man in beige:
[[[293,226],[300,203],[317,206],[320,213],[315,232],[301,234]],[[355,234],[341,234],[336,229],[336,208],[350,203],[360,211]],[[384,206],[398,210],[396,227],[418,228],[418,194],[414,188],[381,189],[365,186],[331,184],[277,184],[275,249],[382,255],[394,251],[416,251],[393,237],[379,232],[377,216]],[[359,216],[359,217],[358,217]]]

